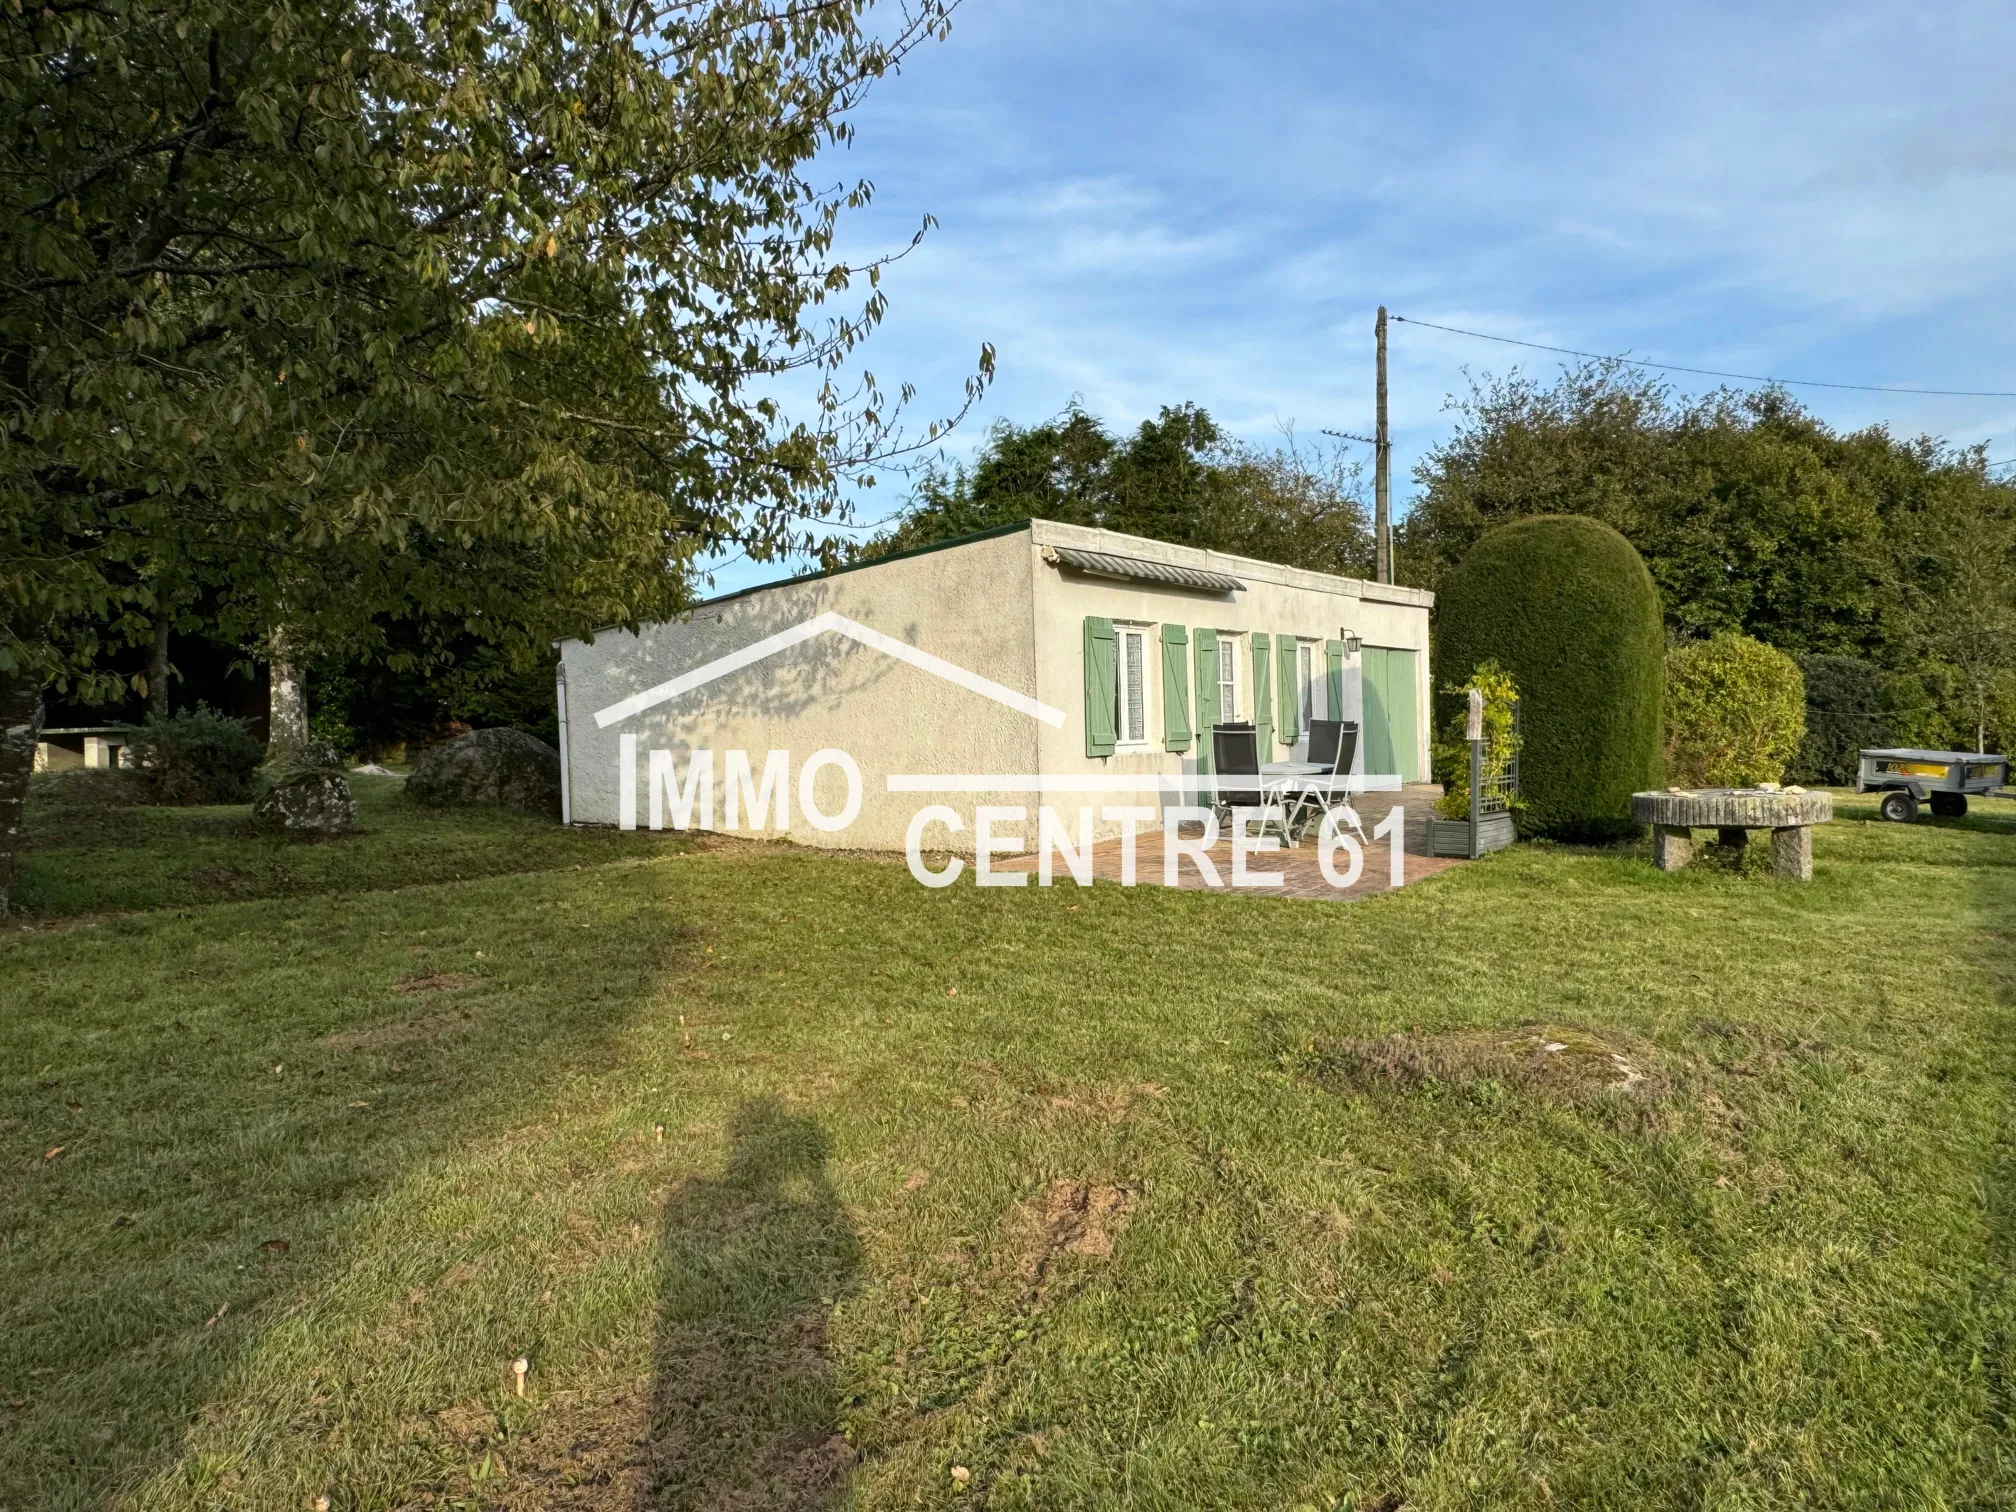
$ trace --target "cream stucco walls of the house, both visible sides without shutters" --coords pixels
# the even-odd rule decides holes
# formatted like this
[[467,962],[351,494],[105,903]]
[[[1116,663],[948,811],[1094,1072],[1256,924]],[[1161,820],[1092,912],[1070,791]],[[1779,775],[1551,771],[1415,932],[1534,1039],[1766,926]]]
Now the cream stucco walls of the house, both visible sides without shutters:
[[[1046,546],[1085,546],[1121,556],[1228,573],[1246,589],[1214,595],[1147,583],[1115,583],[1060,571],[1044,560]],[[683,780],[691,752],[712,752],[714,829],[728,829],[726,762],[730,750],[746,752],[760,774],[772,750],[788,752],[788,835],[804,845],[901,849],[905,829],[925,804],[954,808],[966,829],[933,827],[927,849],[972,853],[976,808],[1024,808],[1020,825],[1000,831],[1034,849],[1038,806],[1050,804],[1077,833],[1081,806],[1147,806],[1157,812],[1183,800],[1163,778],[1195,772],[1198,744],[1167,752],[1161,740],[1159,645],[1149,647],[1145,750],[1109,758],[1085,754],[1083,623],[1087,615],[1189,631],[1268,637],[1296,635],[1320,643],[1359,635],[1367,645],[1417,651],[1419,770],[1427,772],[1429,665],[1427,613],[1431,595],[1355,579],[1306,573],[1242,556],[1167,546],[1139,536],[1032,520],[1028,528],[901,556],[802,583],[756,589],[700,605],[681,621],[651,625],[641,633],[611,631],[591,641],[566,641],[560,665],[566,700],[566,762],[575,823],[619,821],[621,736],[637,736],[637,825],[649,825],[651,750],[673,754],[675,780]],[[659,702],[601,728],[597,710],[689,673],[764,637],[802,625],[821,613],[839,613],[956,667],[992,679],[1014,694],[1032,696],[1062,714],[1060,726],[1008,708],[968,687],[907,665],[879,649],[825,631],[716,681]],[[1189,641],[1193,663],[1195,639]],[[1193,673],[1189,673],[1193,679]],[[1250,700],[1250,641],[1240,645],[1240,675]],[[1187,683],[1193,685],[1193,683]],[[1193,710],[1191,710],[1193,712]],[[1242,712],[1250,716],[1250,704]],[[1359,659],[1345,663],[1345,708],[1359,720]],[[861,812],[845,831],[806,823],[798,802],[798,772],[825,748],[845,750],[863,778]],[[1361,748],[1363,750],[1363,748]],[[1276,744],[1268,760],[1288,756]],[[1300,750],[1292,752],[1300,754]],[[1363,760],[1359,764],[1363,770]],[[889,790],[891,774],[1028,774],[1042,778],[1141,776],[1141,788],[1042,794],[1026,790],[921,792]],[[841,806],[843,778],[827,770],[814,796],[821,808]],[[671,816],[665,818],[671,825]],[[744,829],[748,829],[744,821]],[[1119,825],[1099,818],[1095,835]]]

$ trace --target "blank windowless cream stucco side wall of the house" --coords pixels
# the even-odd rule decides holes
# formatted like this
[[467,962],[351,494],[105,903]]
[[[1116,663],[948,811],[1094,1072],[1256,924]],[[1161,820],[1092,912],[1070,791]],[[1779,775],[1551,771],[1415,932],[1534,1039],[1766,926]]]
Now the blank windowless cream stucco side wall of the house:
[[[748,752],[760,774],[764,754],[784,750],[790,752],[790,839],[901,849],[911,814],[933,798],[889,792],[891,772],[1032,772],[1040,722],[831,631],[607,730],[597,728],[595,712],[829,611],[1032,694],[1030,573],[1028,532],[1018,530],[756,589],[702,605],[685,619],[649,625],[639,635],[609,631],[593,643],[562,643],[575,823],[617,823],[619,736],[631,732],[639,746],[639,827],[649,825],[649,750],[673,752],[679,778],[689,752],[714,752],[716,829],[726,829],[726,752]],[[863,776],[861,812],[837,833],[808,825],[798,804],[800,766],[823,748],[845,750]],[[821,808],[839,810],[843,786],[839,772],[823,772],[816,782]],[[970,816],[974,804],[1022,798],[962,794],[948,802]],[[933,829],[925,845],[970,851],[972,831]]]

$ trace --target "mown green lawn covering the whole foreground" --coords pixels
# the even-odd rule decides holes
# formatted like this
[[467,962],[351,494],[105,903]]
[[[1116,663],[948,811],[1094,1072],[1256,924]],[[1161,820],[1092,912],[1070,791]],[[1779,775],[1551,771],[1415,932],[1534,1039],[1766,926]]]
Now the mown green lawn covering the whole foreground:
[[32,800],[10,1512],[2016,1502],[2012,804],[1333,905],[359,786]]

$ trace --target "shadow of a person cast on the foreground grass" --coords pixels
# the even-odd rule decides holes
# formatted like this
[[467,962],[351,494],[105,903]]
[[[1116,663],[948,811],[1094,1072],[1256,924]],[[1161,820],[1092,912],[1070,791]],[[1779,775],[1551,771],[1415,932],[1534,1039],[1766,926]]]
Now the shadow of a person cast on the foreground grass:
[[827,1137],[772,1101],[730,1121],[722,1175],[659,1222],[659,1325],[639,1512],[839,1506],[827,1318],[861,1240],[827,1179]]

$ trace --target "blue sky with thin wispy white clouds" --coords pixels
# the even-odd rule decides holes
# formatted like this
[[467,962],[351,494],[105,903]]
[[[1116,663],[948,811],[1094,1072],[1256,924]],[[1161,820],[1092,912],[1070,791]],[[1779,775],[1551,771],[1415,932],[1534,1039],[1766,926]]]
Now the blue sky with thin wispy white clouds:
[[[968,0],[857,113],[853,252],[901,246],[867,347],[954,435],[1073,395],[1363,431],[1397,314],[1695,367],[2016,389],[2016,6]],[[1395,327],[1395,498],[1464,369],[1556,359]],[[1702,387],[1706,379],[1673,379]],[[1798,389],[2016,458],[2016,399]],[[901,488],[863,500],[863,518]],[[802,564],[734,562],[716,589]]]

